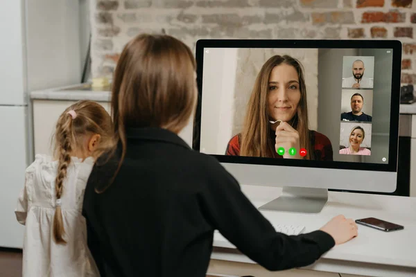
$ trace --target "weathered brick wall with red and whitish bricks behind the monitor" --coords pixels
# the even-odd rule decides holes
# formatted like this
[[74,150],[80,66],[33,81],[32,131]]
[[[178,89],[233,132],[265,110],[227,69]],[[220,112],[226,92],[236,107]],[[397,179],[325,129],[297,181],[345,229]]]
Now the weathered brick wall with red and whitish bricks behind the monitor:
[[[399,39],[403,83],[416,84],[413,0],[92,0],[92,76],[111,78],[124,44],[166,33],[201,38]],[[416,1],[415,1],[416,2]]]

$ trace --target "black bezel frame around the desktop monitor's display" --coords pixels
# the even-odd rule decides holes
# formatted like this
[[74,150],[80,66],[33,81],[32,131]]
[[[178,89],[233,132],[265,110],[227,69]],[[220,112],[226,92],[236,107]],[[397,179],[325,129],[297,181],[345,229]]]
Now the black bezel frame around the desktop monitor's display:
[[397,172],[399,145],[399,102],[401,83],[401,51],[398,40],[315,40],[315,39],[200,39],[196,42],[198,104],[193,123],[193,150],[200,151],[200,125],[202,108],[202,74],[205,48],[387,48],[392,49],[392,85],[390,102],[390,138],[388,163],[356,163],[347,161],[311,161],[273,159],[210,154],[220,163],[243,163],[266,166],[294,166],[306,168],[338,168]]

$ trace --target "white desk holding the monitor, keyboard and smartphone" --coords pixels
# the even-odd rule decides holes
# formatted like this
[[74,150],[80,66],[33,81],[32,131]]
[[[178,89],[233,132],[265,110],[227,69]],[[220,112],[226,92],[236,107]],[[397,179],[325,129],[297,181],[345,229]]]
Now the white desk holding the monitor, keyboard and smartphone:
[[[263,186],[241,186],[254,206],[261,206],[281,193],[281,188]],[[327,205],[316,215],[261,211],[270,222],[306,226],[306,231],[314,231],[332,217],[343,214],[354,220],[363,217],[378,217],[401,224],[404,230],[385,233],[358,225],[358,237],[338,245],[309,267],[299,270],[269,272],[237,251],[231,243],[214,236],[214,250],[211,255],[209,274],[232,276],[338,276],[356,274],[359,276],[416,276],[416,197],[394,197],[385,195],[365,195],[357,193],[329,192]],[[327,271],[327,273],[322,272]],[[261,273],[260,273],[261,272]],[[337,273],[329,274],[329,272]],[[269,275],[270,274],[270,275]],[[294,274],[294,275],[293,275]],[[313,274],[313,275],[311,275]],[[346,275],[347,276],[347,275]]]

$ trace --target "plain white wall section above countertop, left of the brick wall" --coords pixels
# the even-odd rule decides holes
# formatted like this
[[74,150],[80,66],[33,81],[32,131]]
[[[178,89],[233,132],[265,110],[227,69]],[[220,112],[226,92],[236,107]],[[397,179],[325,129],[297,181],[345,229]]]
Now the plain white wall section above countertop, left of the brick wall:
[[26,0],[28,91],[78,84],[80,2]]

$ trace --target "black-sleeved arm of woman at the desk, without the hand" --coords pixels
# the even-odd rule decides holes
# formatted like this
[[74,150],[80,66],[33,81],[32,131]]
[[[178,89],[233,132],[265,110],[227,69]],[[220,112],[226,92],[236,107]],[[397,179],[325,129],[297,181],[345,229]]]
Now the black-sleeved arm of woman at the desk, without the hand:
[[335,245],[324,231],[291,236],[277,233],[232,175],[219,164],[214,171],[205,186],[202,210],[215,229],[259,265],[272,271],[304,267]]

